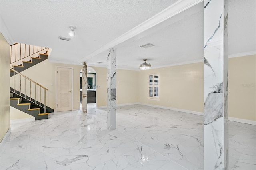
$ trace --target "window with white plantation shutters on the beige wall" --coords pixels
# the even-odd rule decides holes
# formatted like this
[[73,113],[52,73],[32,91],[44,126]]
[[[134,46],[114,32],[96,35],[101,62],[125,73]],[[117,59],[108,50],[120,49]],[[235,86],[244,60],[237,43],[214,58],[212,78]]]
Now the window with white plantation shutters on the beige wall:
[[148,98],[158,99],[159,97],[159,75],[148,75]]

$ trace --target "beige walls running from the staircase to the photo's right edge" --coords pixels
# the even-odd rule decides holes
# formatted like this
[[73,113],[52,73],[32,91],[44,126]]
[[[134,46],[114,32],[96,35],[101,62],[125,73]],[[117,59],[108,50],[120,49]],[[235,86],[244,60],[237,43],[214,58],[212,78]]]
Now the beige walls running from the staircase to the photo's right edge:
[[[256,121],[256,56],[229,59],[229,116]],[[74,109],[79,109],[80,65],[50,63],[47,60],[33,68],[31,79],[48,88],[49,105],[55,109],[56,66],[74,68]],[[45,69],[47,68],[47,69]],[[107,105],[107,69],[96,71],[97,106]],[[26,70],[22,73],[26,73]],[[31,73],[31,72],[30,72]],[[159,73],[159,100],[148,99],[148,74]],[[27,74],[27,73],[26,73]],[[25,74],[25,75],[26,75]],[[43,78],[42,78],[43,77]],[[34,80],[33,79],[33,80]],[[52,83],[52,85],[51,85]],[[203,112],[203,63],[178,65],[147,71],[117,70],[117,104],[146,103]],[[146,87],[146,88],[145,88]]]

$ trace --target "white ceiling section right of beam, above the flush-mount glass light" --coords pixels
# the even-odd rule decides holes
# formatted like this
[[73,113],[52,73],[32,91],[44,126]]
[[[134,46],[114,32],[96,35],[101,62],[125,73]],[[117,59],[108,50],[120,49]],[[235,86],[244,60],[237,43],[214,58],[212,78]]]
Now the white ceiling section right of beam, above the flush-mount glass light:
[[[190,11],[189,11],[190,10]],[[138,70],[148,59],[152,68],[203,60],[203,3],[193,6],[135,38],[120,43],[119,68]],[[229,55],[256,53],[256,1],[229,1]],[[152,43],[148,49],[141,45]],[[107,52],[87,61],[88,65],[106,67]],[[103,62],[96,64],[96,62]]]

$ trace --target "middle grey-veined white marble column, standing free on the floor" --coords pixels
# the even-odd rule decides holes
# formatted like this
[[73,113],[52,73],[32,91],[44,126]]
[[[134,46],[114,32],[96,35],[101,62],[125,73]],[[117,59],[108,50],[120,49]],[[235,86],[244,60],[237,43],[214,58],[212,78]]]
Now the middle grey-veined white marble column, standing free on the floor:
[[108,52],[108,121],[109,130],[116,129],[116,49]]

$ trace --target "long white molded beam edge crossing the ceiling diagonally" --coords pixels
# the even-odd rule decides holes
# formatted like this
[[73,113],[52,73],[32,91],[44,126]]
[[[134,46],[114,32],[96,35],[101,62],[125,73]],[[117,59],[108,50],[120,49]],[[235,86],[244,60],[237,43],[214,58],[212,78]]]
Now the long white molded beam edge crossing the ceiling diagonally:
[[183,12],[184,10],[187,10],[188,8],[194,6],[202,1],[203,0],[179,0],[178,2],[175,2],[174,4],[169,6],[168,8],[162,10],[158,14],[152,16],[148,20],[146,20],[146,21],[142,22],[141,24],[139,24],[138,26],[134,27],[130,31],[124,33],[122,36],[107,43],[106,45],[103,45],[102,47],[100,47],[96,51],[90,53],[89,55],[79,59],[78,61],[76,61],[76,63],[80,64],[80,63],[102,53],[103,51],[106,51],[107,49],[112,48],[112,47],[144,32],[144,31],[146,31],[146,30],[152,28],[153,26],[156,26],[157,24],[160,24],[161,22],[168,20],[169,18],[179,14],[180,12]]

